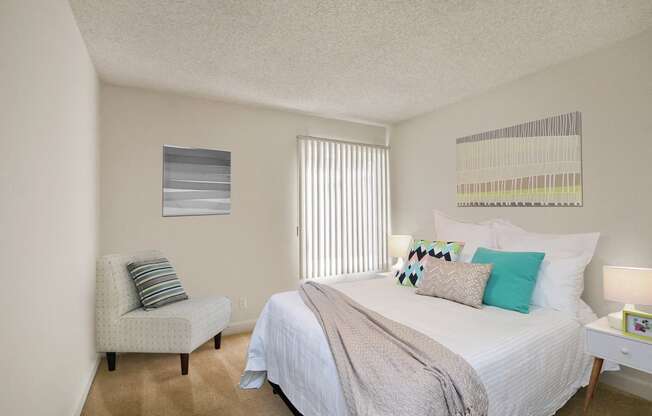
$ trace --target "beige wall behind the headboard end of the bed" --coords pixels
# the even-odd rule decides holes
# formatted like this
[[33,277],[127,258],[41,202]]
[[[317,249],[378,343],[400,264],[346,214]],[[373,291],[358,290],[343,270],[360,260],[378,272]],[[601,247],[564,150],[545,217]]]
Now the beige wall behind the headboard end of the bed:
[[[503,217],[540,232],[599,231],[584,298],[599,316],[619,309],[603,300],[602,265],[652,266],[650,74],[652,31],[394,126],[394,232],[431,237],[433,208],[468,220]],[[584,207],[455,206],[457,137],[576,110],[583,118]]]

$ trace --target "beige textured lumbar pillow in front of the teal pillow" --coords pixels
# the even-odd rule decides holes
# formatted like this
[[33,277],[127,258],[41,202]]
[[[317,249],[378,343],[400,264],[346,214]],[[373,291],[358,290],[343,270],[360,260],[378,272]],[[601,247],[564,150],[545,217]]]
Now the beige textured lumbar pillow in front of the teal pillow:
[[480,308],[492,264],[448,262],[428,257],[417,295],[434,296]]

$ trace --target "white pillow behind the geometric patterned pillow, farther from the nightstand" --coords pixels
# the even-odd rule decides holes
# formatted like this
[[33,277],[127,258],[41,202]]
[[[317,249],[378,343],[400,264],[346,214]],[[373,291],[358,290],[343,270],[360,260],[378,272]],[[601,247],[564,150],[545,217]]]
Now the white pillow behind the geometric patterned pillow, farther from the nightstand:
[[496,233],[525,232],[503,219],[486,220],[479,223],[458,221],[441,211],[433,210],[435,217],[435,239],[439,241],[464,242],[459,261],[470,262],[478,247],[498,248]]

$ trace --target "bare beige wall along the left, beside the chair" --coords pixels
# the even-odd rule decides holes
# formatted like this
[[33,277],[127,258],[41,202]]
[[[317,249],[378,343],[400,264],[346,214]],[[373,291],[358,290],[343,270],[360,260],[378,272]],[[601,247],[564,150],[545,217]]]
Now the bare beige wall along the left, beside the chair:
[[97,78],[64,0],[1,1],[0,51],[0,414],[71,415],[97,362]]

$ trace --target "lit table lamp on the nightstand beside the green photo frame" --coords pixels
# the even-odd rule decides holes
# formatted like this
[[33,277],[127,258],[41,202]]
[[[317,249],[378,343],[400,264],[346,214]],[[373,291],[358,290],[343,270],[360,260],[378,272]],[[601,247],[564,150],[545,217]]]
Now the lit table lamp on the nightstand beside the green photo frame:
[[[636,305],[652,305],[652,269],[604,266],[604,297],[625,304],[623,310],[635,311]],[[623,311],[609,314],[609,326],[622,330]]]

